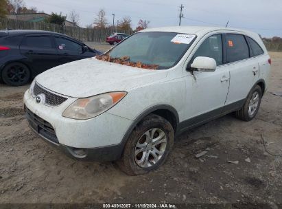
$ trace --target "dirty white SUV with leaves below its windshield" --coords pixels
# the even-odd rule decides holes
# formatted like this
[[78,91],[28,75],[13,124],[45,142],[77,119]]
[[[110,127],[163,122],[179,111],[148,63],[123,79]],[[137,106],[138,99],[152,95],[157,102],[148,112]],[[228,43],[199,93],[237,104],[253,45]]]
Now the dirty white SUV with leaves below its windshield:
[[147,29],[102,56],[49,69],[25,92],[30,127],[77,159],[128,175],[161,166],[176,135],[227,113],[252,120],[271,60],[257,34]]

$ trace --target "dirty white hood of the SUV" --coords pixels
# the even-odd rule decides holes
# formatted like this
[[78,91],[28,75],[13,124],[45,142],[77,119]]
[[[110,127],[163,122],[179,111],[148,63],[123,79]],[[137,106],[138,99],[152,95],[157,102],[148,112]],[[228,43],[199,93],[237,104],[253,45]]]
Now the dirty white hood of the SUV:
[[141,69],[86,58],[49,69],[36,82],[58,94],[86,98],[110,91],[128,91],[161,80],[163,70]]

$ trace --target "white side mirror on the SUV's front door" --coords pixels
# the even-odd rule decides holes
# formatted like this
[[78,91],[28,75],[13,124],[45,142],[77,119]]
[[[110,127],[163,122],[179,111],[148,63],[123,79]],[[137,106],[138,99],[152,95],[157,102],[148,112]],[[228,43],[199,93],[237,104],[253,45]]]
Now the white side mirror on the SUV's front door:
[[216,62],[214,58],[198,56],[194,59],[191,67],[199,72],[214,72],[216,69]]

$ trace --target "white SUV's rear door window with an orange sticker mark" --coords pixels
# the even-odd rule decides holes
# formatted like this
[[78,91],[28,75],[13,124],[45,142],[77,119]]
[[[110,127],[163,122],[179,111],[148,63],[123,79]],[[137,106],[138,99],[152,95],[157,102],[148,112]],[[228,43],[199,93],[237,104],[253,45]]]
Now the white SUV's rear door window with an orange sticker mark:
[[242,61],[250,57],[246,39],[240,34],[226,34],[227,63]]

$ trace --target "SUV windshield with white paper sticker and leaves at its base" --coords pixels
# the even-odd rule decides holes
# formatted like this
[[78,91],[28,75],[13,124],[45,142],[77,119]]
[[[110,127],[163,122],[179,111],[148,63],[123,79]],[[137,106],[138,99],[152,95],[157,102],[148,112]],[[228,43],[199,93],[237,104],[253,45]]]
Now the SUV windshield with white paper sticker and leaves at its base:
[[133,67],[168,69],[180,61],[195,38],[173,32],[140,32],[98,59]]

